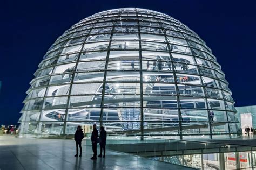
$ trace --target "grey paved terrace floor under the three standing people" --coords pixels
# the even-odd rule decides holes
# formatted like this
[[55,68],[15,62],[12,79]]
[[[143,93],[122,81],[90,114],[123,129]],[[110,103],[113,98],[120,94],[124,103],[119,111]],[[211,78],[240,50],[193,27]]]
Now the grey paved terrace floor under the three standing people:
[[[86,139],[89,140],[89,139]],[[85,141],[82,141],[82,143]],[[99,148],[98,148],[99,153]],[[0,169],[192,169],[136,155],[106,150],[106,158],[91,160],[90,145],[82,157],[74,157],[75,141],[24,139],[0,136]]]

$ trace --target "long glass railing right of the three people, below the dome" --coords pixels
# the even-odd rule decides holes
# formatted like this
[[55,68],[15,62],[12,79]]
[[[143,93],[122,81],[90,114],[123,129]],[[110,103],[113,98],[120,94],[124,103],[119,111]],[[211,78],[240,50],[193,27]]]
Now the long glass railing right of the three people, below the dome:
[[196,169],[256,167],[256,147],[221,144],[215,141],[109,134],[107,148]]

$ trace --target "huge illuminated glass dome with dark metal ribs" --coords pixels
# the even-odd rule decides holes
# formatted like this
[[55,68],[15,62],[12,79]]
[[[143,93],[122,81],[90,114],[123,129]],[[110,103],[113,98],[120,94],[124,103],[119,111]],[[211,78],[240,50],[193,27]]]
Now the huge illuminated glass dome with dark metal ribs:
[[178,20],[122,8],[65,31],[24,100],[20,136],[85,132],[174,138],[237,136],[231,91],[215,56]]

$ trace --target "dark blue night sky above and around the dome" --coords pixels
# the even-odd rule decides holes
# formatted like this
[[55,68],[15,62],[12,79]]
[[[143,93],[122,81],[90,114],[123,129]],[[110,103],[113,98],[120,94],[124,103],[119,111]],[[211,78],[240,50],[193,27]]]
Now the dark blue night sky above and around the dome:
[[226,74],[235,106],[256,105],[255,1],[1,1],[0,125],[17,124],[48,48],[71,25],[104,10],[137,7],[166,13],[195,31]]

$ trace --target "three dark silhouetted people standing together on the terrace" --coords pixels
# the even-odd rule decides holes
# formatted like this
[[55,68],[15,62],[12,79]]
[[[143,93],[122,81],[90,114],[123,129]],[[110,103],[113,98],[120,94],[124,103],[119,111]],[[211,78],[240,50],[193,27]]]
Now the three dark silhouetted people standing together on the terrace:
[[[93,131],[91,134],[91,142],[92,142],[92,151],[93,151],[93,156],[91,157],[91,159],[95,160],[97,159],[97,144],[99,143],[100,146],[100,154],[98,155],[98,157],[102,157],[105,158],[105,153],[106,153],[106,136],[107,136],[107,132],[105,131],[104,127],[101,126],[99,129],[99,132],[97,130],[97,126],[96,124],[94,124],[92,126]],[[78,146],[80,149],[80,154],[79,157],[82,157],[82,139],[84,138],[84,133],[83,130],[81,128],[81,126],[77,126],[77,131],[75,133],[75,141],[76,141],[76,155],[75,157],[78,157]],[[102,155],[102,151],[103,151],[103,155]]]

